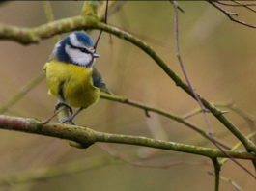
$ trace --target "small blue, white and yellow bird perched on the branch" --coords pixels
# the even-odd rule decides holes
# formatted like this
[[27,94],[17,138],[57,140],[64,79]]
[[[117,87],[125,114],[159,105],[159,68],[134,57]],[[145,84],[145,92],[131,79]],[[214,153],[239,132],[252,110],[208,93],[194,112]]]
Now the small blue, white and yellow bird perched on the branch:
[[[100,91],[112,95],[100,72],[94,67],[96,58],[94,41],[84,32],[74,32],[58,41],[43,70],[49,87],[48,94],[58,98],[56,111],[65,105],[71,116],[60,123],[71,122],[83,109],[95,104]],[[79,108],[75,113],[71,107]]]

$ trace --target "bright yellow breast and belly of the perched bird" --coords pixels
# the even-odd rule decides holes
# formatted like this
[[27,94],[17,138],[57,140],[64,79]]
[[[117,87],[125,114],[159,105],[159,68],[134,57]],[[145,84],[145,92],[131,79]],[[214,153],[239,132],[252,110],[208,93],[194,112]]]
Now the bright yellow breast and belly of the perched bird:
[[93,86],[92,69],[51,61],[44,66],[49,94],[71,107],[88,107],[100,97]]

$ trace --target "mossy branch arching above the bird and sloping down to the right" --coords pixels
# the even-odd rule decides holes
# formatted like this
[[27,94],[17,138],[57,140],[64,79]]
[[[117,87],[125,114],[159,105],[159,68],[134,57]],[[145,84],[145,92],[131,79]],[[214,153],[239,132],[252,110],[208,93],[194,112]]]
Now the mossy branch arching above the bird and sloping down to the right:
[[[185,84],[185,82],[171,68],[169,68],[166,63],[163,62],[152,47],[147,45],[144,41],[140,41],[138,38],[133,37],[127,32],[99,22],[98,18],[94,16],[75,16],[65,18],[31,29],[0,24],[0,40],[17,41],[22,44],[38,43],[41,40],[50,38],[56,34],[82,29],[103,30],[119,37],[120,39],[133,43],[141,50],[146,52],[154,61],[156,61],[156,64],[165,71],[165,73],[175,82],[177,86],[181,87],[188,95],[191,95],[194,98],[192,91]],[[201,95],[199,95],[199,97],[204,106],[211,111],[211,113],[213,113],[218,121],[223,123],[242,142],[246,150],[256,153],[256,147],[253,142],[247,139],[233,123],[228,121],[223,116],[222,112],[215,108],[212,103],[204,99]]]

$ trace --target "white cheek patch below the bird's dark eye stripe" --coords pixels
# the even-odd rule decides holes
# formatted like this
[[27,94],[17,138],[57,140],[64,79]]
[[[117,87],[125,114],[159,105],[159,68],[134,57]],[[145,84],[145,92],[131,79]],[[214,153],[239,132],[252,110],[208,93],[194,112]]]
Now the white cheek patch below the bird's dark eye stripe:
[[[68,44],[65,46],[65,50],[66,50],[67,54],[70,56],[71,61],[77,65],[86,67],[92,61],[91,54],[85,54],[85,53],[81,52],[79,49],[71,48],[71,46]],[[94,59],[94,61],[95,61],[95,59]]]

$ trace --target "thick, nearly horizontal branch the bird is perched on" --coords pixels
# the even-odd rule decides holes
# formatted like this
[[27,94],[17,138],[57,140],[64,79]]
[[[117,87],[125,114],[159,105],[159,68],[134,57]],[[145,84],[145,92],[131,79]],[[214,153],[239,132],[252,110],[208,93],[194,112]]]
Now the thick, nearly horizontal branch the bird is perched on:
[[[0,128],[67,139],[83,145],[84,148],[89,147],[96,142],[107,142],[144,146],[160,150],[181,151],[185,153],[207,156],[209,158],[226,157],[222,151],[215,149],[154,140],[140,136],[102,133],[82,126],[66,125],[61,123],[44,124],[34,119],[0,116]],[[256,159],[254,154],[248,152],[228,150],[226,150],[226,152],[232,155],[234,158],[250,160]]]

